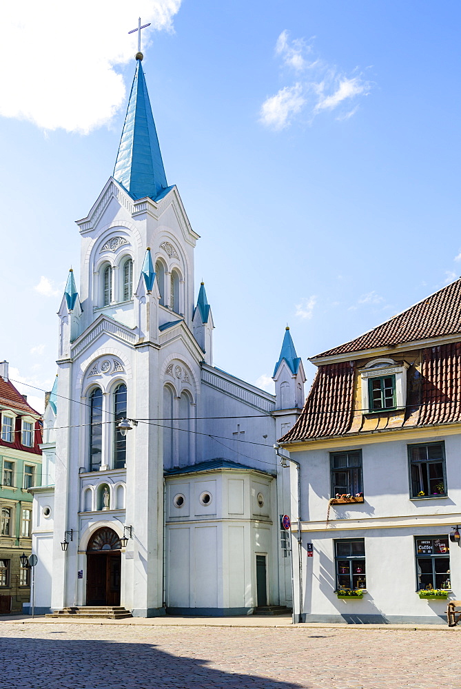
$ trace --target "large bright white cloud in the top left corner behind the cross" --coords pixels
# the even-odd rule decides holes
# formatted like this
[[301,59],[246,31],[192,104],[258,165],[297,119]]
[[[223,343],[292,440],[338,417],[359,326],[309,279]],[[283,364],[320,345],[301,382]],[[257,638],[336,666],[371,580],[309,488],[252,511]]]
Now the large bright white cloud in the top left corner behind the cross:
[[0,115],[43,130],[88,134],[125,98],[117,65],[134,63],[137,17],[145,46],[152,30],[172,30],[181,0],[25,0],[0,5]]

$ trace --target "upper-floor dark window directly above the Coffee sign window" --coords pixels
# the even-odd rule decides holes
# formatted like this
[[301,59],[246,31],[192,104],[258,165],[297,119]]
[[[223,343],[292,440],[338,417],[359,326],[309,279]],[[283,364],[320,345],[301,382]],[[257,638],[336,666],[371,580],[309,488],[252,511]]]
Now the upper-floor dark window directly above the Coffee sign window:
[[409,445],[410,497],[447,495],[444,443]]

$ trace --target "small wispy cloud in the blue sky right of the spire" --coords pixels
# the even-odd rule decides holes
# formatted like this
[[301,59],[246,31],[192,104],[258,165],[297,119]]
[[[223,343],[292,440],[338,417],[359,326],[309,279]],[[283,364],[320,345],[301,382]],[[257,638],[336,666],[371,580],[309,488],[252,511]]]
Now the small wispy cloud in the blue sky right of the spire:
[[337,121],[349,120],[356,114],[358,105],[352,101],[369,94],[372,84],[365,81],[358,68],[345,74],[319,56],[307,61],[305,56],[311,52],[311,45],[305,39],[291,40],[287,30],[281,32],[276,41],[276,55],[285,66],[298,72],[298,81],[267,97],[260,110],[260,123],[280,131],[301,110],[306,112],[309,123],[322,112],[336,111]]

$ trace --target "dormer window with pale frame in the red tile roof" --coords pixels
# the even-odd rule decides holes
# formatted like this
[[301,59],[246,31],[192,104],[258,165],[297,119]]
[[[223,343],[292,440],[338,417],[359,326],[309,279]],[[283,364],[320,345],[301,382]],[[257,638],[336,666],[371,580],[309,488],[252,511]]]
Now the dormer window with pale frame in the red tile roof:
[[360,369],[362,413],[404,409],[407,404],[407,368],[404,361],[380,358]]

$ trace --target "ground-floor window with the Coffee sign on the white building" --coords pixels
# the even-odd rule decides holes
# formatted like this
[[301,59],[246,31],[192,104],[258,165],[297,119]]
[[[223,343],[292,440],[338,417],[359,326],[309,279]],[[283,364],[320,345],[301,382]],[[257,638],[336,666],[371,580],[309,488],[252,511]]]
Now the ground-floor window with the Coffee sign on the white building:
[[448,536],[416,538],[415,544],[417,590],[451,588]]

